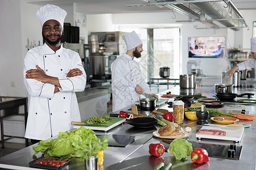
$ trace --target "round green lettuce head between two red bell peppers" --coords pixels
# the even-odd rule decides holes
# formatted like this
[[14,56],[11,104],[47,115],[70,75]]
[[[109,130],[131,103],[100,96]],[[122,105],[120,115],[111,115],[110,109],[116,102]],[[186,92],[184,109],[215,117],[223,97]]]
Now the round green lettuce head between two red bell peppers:
[[176,160],[188,160],[187,157],[191,155],[192,151],[192,144],[183,138],[174,139],[167,150],[168,153],[175,156]]

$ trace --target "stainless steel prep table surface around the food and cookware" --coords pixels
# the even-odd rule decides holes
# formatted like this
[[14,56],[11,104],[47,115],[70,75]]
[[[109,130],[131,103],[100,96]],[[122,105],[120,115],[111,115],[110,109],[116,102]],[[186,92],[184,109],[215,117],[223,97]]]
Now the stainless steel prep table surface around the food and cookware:
[[[214,88],[213,87],[204,87],[199,86],[195,89],[180,89],[179,87],[171,88],[165,92],[171,91],[172,94],[197,94],[202,93],[204,96],[212,97]],[[250,91],[255,92],[253,89],[238,89],[238,92]],[[161,94],[164,94],[162,92]],[[254,96],[255,97],[255,96]],[[234,108],[236,106],[241,106],[247,111],[250,111],[250,114],[256,115],[255,105],[241,105],[241,104],[227,104],[227,108]],[[238,107],[239,108],[239,107]],[[124,108],[127,110],[129,107]],[[255,139],[256,133],[254,129],[256,128],[255,122],[250,122],[251,128],[245,130],[243,134],[242,141],[237,143],[237,145],[242,145],[242,152],[240,160],[231,160],[231,159],[221,159],[221,158],[212,158],[210,157],[210,162],[207,164],[200,165],[198,169],[255,169],[255,159],[256,159],[256,146]],[[152,138],[152,131],[159,129],[160,126],[156,125],[153,128],[142,129],[135,128],[126,123],[117,126],[116,128],[108,131],[108,133],[103,133],[101,131],[96,131],[97,134],[126,134],[126,135],[139,135],[141,138],[137,141],[131,143],[130,145],[122,147],[109,147],[109,150],[104,151],[104,169],[152,169],[152,157],[148,154],[148,145],[150,143],[158,143],[158,138]],[[189,136],[188,140],[191,142],[198,142],[196,139],[196,131],[200,129],[201,126],[192,125],[192,134]],[[149,141],[147,141],[150,139]],[[146,142],[146,143],[145,143]],[[212,143],[214,145],[230,145],[233,141],[220,141],[220,140],[210,140],[204,139],[201,142]],[[34,145],[35,146],[35,145]],[[167,150],[167,148],[166,148]],[[3,156],[0,158],[0,167],[16,165],[18,167],[28,167],[28,163],[32,160],[32,146],[23,148],[22,150],[16,151],[10,155]],[[41,156],[40,153],[36,156]],[[174,156],[164,153],[161,158],[164,158],[165,162],[171,161],[174,165],[172,169],[196,169],[193,167],[191,159],[186,162],[176,162]],[[69,169],[84,167],[84,163],[81,164],[71,164]]]

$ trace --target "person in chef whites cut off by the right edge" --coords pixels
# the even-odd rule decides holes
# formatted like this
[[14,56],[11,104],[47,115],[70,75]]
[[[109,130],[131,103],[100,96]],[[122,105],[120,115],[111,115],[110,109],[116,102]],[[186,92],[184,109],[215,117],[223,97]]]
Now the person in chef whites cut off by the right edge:
[[234,66],[231,70],[229,70],[229,76],[231,77],[237,70],[246,70],[254,68],[256,75],[256,37],[251,37],[251,55],[253,59],[243,61],[236,66]]

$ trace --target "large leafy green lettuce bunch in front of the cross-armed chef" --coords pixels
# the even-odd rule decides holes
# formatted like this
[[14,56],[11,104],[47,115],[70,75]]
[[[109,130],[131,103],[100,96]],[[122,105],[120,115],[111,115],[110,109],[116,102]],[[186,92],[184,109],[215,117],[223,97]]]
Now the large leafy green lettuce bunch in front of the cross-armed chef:
[[[81,161],[88,160],[89,156],[99,158],[97,151],[108,150],[108,139],[97,138],[94,131],[81,126],[73,131],[60,132],[56,139],[40,141],[34,146],[35,154],[44,152],[45,157],[59,157],[70,159],[81,158]],[[34,154],[34,155],[35,155]]]

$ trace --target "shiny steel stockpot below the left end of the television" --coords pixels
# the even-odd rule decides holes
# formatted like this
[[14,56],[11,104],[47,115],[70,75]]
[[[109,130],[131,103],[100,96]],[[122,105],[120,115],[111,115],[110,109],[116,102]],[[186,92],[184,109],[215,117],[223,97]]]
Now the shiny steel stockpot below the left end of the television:
[[195,74],[180,75],[180,88],[195,88],[195,87],[196,87]]

